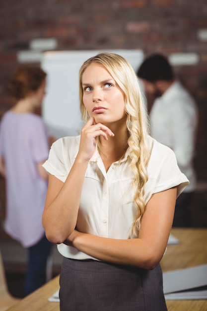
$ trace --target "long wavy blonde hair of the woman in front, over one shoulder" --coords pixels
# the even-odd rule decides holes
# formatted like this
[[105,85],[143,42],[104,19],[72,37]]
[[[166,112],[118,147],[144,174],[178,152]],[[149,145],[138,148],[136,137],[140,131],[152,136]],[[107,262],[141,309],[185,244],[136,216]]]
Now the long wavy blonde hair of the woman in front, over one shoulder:
[[89,118],[83,104],[82,76],[91,63],[104,66],[125,94],[125,109],[127,114],[127,129],[129,132],[131,168],[134,172],[132,187],[135,193],[134,203],[137,216],[132,224],[132,233],[138,236],[141,218],[145,209],[144,186],[147,182],[147,164],[151,154],[148,140],[149,122],[145,104],[141,95],[138,78],[132,66],[122,56],[114,53],[101,53],[89,58],[79,71],[79,99],[82,119]]

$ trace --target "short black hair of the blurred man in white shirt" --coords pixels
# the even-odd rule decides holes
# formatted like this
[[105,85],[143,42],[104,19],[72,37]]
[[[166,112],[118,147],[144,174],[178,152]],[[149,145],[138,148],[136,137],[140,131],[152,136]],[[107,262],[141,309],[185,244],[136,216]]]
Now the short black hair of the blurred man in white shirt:
[[158,80],[171,81],[174,79],[173,69],[166,57],[153,54],[147,57],[137,71],[138,78],[149,82]]

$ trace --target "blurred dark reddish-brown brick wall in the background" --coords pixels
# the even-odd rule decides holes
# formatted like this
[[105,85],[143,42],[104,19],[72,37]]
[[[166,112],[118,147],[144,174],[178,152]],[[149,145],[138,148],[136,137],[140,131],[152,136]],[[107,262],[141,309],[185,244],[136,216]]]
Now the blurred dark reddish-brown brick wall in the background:
[[[1,1],[0,117],[12,105],[6,86],[19,65],[20,52],[31,52],[36,39],[53,39],[52,48],[57,50],[142,49],[145,55],[162,52],[195,57],[196,61],[174,67],[198,103],[195,165],[199,180],[207,181],[206,0]],[[1,178],[0,193],[2,187]]]

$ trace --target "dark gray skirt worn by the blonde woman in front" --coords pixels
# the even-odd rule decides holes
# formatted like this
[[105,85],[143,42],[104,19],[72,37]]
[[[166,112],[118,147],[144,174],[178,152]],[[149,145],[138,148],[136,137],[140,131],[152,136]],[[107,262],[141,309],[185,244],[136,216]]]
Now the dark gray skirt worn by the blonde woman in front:
[[64,257],[60,311],[167,311],[161,267],[145,270]]

